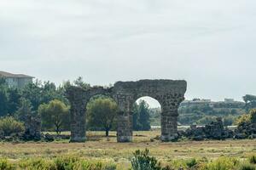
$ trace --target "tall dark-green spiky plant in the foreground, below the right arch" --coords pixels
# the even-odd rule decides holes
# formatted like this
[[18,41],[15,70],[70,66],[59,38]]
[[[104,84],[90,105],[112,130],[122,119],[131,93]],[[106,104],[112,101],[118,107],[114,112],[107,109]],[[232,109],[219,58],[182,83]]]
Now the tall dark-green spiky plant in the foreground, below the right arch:
[[155,157],[148,156],[148,149],[136,150],[131,160],[133,170],[160,170],[160,162]]

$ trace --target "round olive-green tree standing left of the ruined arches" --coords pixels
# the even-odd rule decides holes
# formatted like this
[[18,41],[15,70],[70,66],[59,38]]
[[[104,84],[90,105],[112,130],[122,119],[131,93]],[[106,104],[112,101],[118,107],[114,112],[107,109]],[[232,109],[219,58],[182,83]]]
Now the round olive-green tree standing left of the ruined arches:
[[42,127],[54,128],[57,134],[60,134],[61,128],[67,127],[70,122],[69,108],[58,99],[50,101],[49,104],[39,105],[38,114],[42,118]]

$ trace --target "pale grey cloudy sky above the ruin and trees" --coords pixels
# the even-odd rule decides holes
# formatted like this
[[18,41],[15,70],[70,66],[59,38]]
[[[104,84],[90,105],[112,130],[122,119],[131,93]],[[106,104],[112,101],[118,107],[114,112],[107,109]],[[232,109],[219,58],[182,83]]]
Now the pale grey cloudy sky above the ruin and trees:
[[92,85],[184,79],[187,99],[256,94],[255,0],[3,0],[0,70]]

